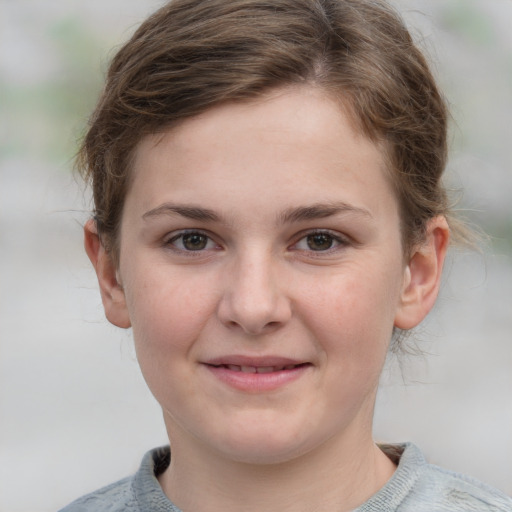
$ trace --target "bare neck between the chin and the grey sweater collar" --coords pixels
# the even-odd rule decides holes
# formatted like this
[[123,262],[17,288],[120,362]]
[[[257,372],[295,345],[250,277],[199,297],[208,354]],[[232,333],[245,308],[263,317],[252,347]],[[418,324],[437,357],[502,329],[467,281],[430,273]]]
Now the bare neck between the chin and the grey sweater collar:
[[182,510],[353,510],[395,470],[371,436],[356,437],[331,439],[306,455],[268,465],[227,460],[204,450],[187,450],[182,457],[173,446],[171,465],[160,483]]

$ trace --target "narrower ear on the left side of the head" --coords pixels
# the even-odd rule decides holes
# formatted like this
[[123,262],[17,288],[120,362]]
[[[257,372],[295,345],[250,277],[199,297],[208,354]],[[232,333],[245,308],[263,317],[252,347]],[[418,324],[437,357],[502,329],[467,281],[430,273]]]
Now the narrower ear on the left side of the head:
[[84,226],[84,246],[98,277],[101,300],[108,321],[127,329],[131,322],[124,290],[118,281],[117,267],[101,243],[96,223],[92,219]]

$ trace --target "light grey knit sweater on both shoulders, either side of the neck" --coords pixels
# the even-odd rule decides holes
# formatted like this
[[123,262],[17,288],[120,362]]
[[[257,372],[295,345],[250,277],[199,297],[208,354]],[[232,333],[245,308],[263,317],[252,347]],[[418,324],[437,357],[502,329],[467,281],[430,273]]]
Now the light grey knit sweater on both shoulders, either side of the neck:
[[[354,512],[512,512],[512,499],[467,476],[428,464],[413,444],[382,449],[398,467],[389,482]],[[155,475],[169,465],[169,448],[148,452],[137,473],[88,494],[60,512],[181,512]]]

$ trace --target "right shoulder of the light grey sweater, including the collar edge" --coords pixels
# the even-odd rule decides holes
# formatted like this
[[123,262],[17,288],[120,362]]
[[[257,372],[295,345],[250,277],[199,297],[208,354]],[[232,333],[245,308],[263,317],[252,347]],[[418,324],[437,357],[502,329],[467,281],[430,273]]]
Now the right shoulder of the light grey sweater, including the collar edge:
[[[381,449],[398,462],[391,480],[368,503],[389,512],[512,512],[512,499],[471,477],[427,463],[413,444]],[[401,452],[401,453],[400,453]],[[377,510],[364,506],[362,510]]]

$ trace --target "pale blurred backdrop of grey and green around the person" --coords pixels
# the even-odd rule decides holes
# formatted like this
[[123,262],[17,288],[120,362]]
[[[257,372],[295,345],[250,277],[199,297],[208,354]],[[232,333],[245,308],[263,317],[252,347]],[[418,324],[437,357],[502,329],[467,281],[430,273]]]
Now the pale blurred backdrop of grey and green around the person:
[[[454,251],[390,358],[376,438],[512,494],[512,2],[395,0],[452,107],[447,181],[490,241]],[[82,250],[76,141],[109,57],[160,0],[0,0],[0,511],[55,511],[166,443]]]

